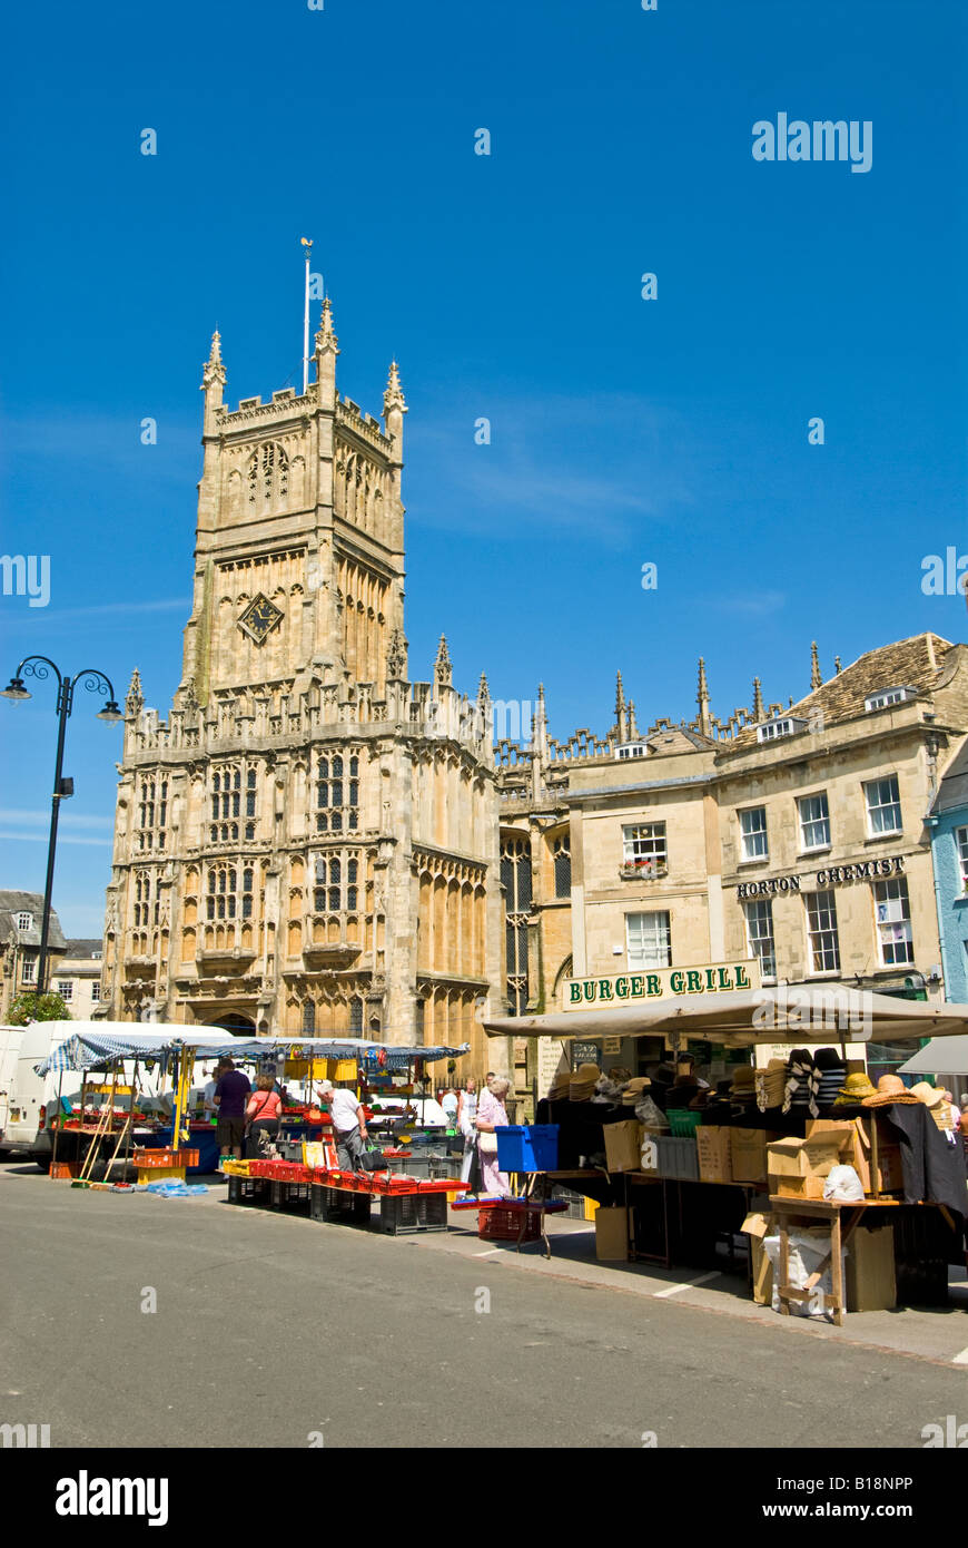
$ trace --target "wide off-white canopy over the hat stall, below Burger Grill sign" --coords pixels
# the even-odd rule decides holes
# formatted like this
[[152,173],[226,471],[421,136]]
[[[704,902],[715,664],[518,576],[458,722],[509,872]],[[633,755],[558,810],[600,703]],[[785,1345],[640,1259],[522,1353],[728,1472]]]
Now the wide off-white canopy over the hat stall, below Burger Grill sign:
[[[637,1005],[484,1022],[490,1037],[673,1037],[753,1043],[892,1043],[968,1034],[968,1005],[902,1000],[841,983],[778,985],[731,994],[679,994]],[[956,1073],[956,1071],[949,1071]]]

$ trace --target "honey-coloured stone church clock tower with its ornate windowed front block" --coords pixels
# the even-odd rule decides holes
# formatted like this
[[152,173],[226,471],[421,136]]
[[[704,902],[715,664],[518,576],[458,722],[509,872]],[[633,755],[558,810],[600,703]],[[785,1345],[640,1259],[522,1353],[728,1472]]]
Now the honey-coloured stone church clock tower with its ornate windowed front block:
[[[336,385],[224,402],[204,365],[192,615],[167,720],[125,701],[105,1014],[472,1042],[501,983],[487,712],[411,681],[404,415]],[[495,1002],[496,1008],[496,1002]],[[475,1060],[476,1065],[476,1060]]]

